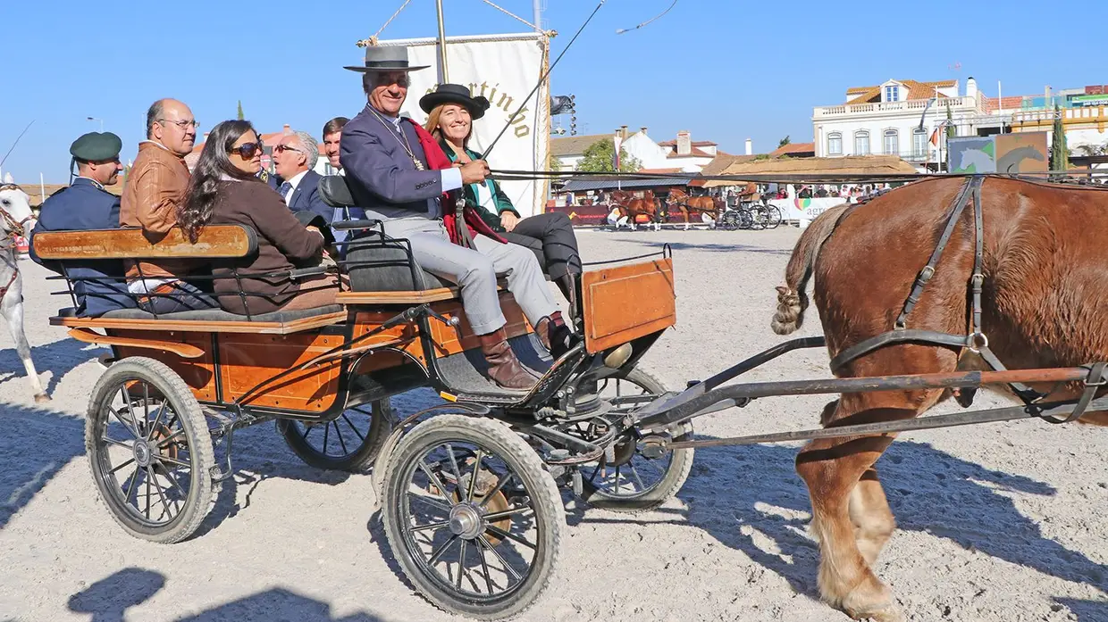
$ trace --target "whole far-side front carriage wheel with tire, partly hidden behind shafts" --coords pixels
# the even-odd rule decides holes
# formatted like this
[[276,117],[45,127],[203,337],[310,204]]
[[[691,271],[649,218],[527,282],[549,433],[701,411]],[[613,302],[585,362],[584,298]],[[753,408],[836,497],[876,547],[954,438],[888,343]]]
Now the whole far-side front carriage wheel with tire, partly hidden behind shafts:
[[[647,372],[630,370],[620,377],[608,379],[601,385],[602,396],[628,397],[660,395],[666,392],[661,381]],[[690,440],[693,424],[686,422],[673,432],[675,440]],[[671,499],[693,468],[693,449],[671,449],[648,457],[646,445],[634,431],[616,442],[615,459],[601,458],[581,466],[584,493],[589,505],[615,511],[646,511]],[[649,452],[647,452],[649,453]]]

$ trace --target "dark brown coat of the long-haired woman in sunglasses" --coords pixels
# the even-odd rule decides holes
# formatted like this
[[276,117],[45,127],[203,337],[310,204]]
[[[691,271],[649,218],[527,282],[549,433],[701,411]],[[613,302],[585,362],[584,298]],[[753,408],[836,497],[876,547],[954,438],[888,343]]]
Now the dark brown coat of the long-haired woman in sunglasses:
[[[218,261],[213,266],[215,293],[219,305],[232,313],[246,313],[238,294],[238,283],[230,277],[234,268],[238,276],[280,272],[311,265],[324,250],[324,237],[304,228],[288,206],[265,183],[257,179],[219,182],[219,190],[212,211],[212,225],[246,225],[258,235],[258,252],[253,257]],[[224,278],[220,278],[224,277]],[[288,303],[300,286],[286,279],[243,279],[243,291],[261,294],[247,296],[250,313],[268,313]]]

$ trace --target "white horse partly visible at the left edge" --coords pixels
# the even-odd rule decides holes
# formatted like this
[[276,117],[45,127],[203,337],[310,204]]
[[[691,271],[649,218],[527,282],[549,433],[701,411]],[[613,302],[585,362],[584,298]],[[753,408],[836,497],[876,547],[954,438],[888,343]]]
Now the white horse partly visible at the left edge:
[[50,396],[34,371],[31,346],[23,334],[23,278],[19,273],[19,251],[16,248],[16,236],[30,238],[33,225],[31,197],[11,182],[0,184],[0,315],[8,321],[16,352],[34,391],[34,401],[41,403],[49,402]]

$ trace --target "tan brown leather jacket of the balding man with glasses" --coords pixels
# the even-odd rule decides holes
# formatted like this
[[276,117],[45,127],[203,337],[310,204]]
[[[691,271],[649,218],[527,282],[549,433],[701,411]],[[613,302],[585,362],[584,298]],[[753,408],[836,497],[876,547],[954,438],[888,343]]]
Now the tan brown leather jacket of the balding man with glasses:
[[[188,167],[176,154],[151,141],[138,144],[120,204],[120,227],[142,228],[152,241],[162,239],[177,224],[177,206],[188,189]],[[127,278],[138,277],[136,261],[126,261]],[[144,277],[183,277],[189,262],[158,259],[142,262]]]

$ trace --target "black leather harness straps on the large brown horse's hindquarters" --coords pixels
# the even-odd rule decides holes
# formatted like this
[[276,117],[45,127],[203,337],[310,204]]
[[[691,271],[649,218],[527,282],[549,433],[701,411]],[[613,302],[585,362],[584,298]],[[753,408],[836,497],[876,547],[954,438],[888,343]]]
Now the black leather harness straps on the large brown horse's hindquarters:
[[[985,276],[982,271],[982,262],[985,255],[985,228],[982,219],[981,188],[984,185],[984,175],[973,175],[967,177],[965,183],[962,185],[962,189],[958,191],[954,206],[951,209],[951,215],[946,219],[946,227],[943,229],[943,234],[938,238],[938,243],[935,245],[935,249],[931,252],[931,258],[927,260],[926,266],[924,266],[916,276],[915,282],[912,286],[912,291],[909,293],[907,299],[904,300],[904,305],[901,309],[900,315],[896,317],[896,321],[893,323],[893,330],[863,340],[860,343],[855,343],[854,345],[840,352],[831,359],[832,373],[838,374],[844,365],[859,359],[860,356],[896,343],[925,343],[931,345],[965,348],[971,352],[981,355],[982,360],[984,360],[985,363],[993,369],[993,371],[999,372],[1006,370],[1004,363],[1002,363],[996,354],[989,349],[988,338],[985,335],[984,328],[982,326],[982,290],[985,283]],[[968,282],[970,294],[972,297],[968,334],[961,335],[938,331],[909,329],[909,315],[911,315],[916,303],[920,301],[920,297],[923,294],[924,288],[927,287],[932,277],[935,276],[935,267],[938,266],[938,260],[942,258],[943,251],[951,241],[951,236],[954,234],[954,227],[957,225],[963,211],[965,211],[966,206],[970,205],[971,201],[973,201],[974,215],[974,263],[973,272],[970,276]],[[841,222],[842,218],[851,211],[853,210],[851,209],[843,212],[840,216],[839,221]],[[1095,397],[1097,391],[1105,385],[1108,385],[1108,380],[1106,380],[1108,379],[1108,374],[1105,373],[1105,367],[1106,363],[1095,363],[1091,365],[1089,370],[1089,377],[1085,381],[1086,388],[1078,398],[1071,414],[1064,418],[1051,416],[1043,416],[1042,418],[1050,423],[1069,423],[1080,417],[1086,407],[1088,407],[1089,402],[1091,402]],[[1025,405],[1029,407],[1032,407],[1035,402],[1047,395],[1022,383],[1012,383],[1008,387],[1024,402]]]

